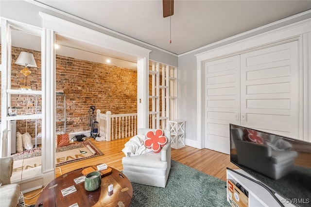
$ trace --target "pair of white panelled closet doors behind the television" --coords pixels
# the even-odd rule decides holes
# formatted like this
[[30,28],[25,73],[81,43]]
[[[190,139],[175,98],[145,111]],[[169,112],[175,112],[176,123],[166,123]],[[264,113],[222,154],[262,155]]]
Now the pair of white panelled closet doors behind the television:
[[298,41],[204,67],[205,148],[229,154],[229,123],[298,138]]

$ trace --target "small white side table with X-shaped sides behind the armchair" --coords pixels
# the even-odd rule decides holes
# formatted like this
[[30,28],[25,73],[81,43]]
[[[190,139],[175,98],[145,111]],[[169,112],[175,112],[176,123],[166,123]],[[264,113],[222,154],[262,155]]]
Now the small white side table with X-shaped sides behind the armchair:
[[170,120],[171,147],[179,149],[185,146],[185,122],[182,120]]

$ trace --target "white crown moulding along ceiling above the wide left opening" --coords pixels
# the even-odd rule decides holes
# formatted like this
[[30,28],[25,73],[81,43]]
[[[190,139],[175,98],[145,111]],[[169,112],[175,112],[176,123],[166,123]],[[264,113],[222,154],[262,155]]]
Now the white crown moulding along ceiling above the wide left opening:
[[119,35],[119,36],[121,36],[121,37],[125,37],[125,38],[127,38],[127,39],[129,39],[129,40],[132,40],[132,41],[135,41],[135,42],[137,42],[137,43],[139,43],[139,44],[143,44],[143,45],[146,45],[146,46],[148,46],[148,47],[155,48],[155,49],[157,49],[157,50],[159,50],[159,51],[166,52],[166,53],[168,53],[168,54],[171,54],[171,55],[173,55],[173,56],[178,57],[178,55],[175,54],[175,53],[173,53],[173,52],[169,52],[169,51],[166,51],[166,50],[164,50],[164,49],[162,49],[162,48],[155,47],[154,45],[150,45],[150,44],[148,44],[148,43],[142,42],[142,41],[140,41],[140,40],[138,40],[138,39],[135,39],[135,38],[133,38],[133,37],[130,37],[130,36],[127,36],[127,35],[123,35],[123,34],[118,33],[118,32],[116,32],[116,31],[110,30],[110,29],[108,29],[108,28],[106,28],[106,27],[103,27],[103,26],[100,26],[100,25],[95,24],[95,23],[93,23],[93,22],[87,21],[87,20],[85,20],[85,19],[83,19],[83,18],[70,15],[70,14],[68,14],[68,13],[66,13],[66,12],[63,12],[63,11],[58,10],[58,9],[55,9],[55,8],[53,8],[53,7],[51,7],[51,6],[48,6],[48,5],[45,5],[45,4],[41,3],[41,2],[37,2],[37,1],[35,1],[35,0],[25,0],[25,1],[27,1],[27,2],[29,2],[29,3],[32,3],[32,4],[35,4],[36,6],[39,6],[39,7],[48,9],[48,10],[51,10],[51,11],[56,12],[56,13],[58,13],[58,14],[65,15],[65,16],[67,16],[67,17],[70,17],[70,18],[79,20],[79,21],[81,21],[81,22],[83,22],[83,23],[89,24],[89,25],[91,25],[91,26],[94,26],[94,27],[99,28],[99,29],[101,29],[101,30],[104,30],[104,31],[106,31],[106,32],[109,32],[109,33],[112,33],[112,34],[115,34],[115,35]]

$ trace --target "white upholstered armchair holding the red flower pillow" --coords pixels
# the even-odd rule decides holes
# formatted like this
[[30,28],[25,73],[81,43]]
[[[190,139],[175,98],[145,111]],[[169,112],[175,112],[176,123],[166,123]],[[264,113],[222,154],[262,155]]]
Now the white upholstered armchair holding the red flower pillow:
[[[145,135],[155,129],[138,129],[138,135]],[[160,153],[149,152],[122,158],[123,174],[133,183],[165,188],[171,169],[171,132],[163,130],[168,142]]]

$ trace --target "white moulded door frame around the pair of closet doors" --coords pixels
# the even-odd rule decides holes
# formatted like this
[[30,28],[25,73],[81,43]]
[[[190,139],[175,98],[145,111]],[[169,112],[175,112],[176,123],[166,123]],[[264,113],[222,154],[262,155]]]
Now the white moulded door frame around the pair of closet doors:
[[[269,26],[269,25],[267,25]],[[254,31],[249,31],[251,33]],[[245,35],[245,34],[243,34]],[[234,42],[216,49],[202,52],[197,58],[197,142],[204,148],[204,62],[221,59],[245,52],[255,51],[274,45],[299,41],[299,136],[298,138],[311,141],[311,19],[306,19]]]

